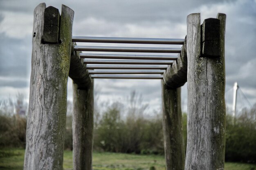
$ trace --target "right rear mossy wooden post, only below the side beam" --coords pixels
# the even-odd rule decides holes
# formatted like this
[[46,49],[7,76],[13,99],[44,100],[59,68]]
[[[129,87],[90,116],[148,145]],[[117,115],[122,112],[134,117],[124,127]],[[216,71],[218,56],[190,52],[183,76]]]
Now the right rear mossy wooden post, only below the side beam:
[[166,170],[184,170],[181,88],[168,89],[164,81],[161,82]]

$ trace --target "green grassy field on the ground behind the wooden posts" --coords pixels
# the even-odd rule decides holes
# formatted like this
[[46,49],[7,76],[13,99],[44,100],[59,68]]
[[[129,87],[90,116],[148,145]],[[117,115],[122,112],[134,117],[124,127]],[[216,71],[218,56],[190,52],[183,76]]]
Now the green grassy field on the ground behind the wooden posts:
[[[24,149],[0,150],[0,170],[22,170]],[[164,157],[109,152],[93,153],[93,170],[165,170]],[[64,152],[64,170],[72,170],[72,151]],[[255,164],[225,163],[225,170],[256,170]]]

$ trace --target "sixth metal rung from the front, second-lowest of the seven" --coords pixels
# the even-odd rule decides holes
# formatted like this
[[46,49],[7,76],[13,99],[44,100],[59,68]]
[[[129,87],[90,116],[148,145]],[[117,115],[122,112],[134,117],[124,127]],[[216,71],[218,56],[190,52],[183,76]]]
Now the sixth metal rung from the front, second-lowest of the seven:
[[164,70],[88,70],[89,74],[164,74]]

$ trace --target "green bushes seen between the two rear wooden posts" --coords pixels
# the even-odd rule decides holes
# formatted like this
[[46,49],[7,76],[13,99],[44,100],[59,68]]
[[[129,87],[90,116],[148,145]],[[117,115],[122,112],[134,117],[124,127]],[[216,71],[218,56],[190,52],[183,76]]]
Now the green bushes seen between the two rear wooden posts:
[[[161,117],[162,118],[162,117]],[[121,119],[117,105],[103,113],[94,130],[94,149],[108,152],[164,154],[162,119],[130,114]]]

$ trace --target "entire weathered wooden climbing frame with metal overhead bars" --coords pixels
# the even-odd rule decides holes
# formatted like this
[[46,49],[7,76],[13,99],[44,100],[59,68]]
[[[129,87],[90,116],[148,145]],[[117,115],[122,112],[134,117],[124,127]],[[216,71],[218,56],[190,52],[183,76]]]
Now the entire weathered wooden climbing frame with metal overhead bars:
[[[93,78],[162,79],[166,170],[224,169],[226,15],[219,13],[217,18],[208,18],[202,25],[200,13],[188,15],[187,35],[184,40],[72,38],[73,16],[74,11],[65,5],[62,6],[61,15],[58,9],[46,7],[45,3],[39,4],[34,10],[24,170],[63,169],[68,76],[73,80],[74,170],[92,170]],[[182,47],[98,47],[77,46],[75,42],[180,44]],[[80,51],[178,53],[178,55],[175,57],[88,54]],[[180,87],[186,82],[188,143],[185,157]]]

